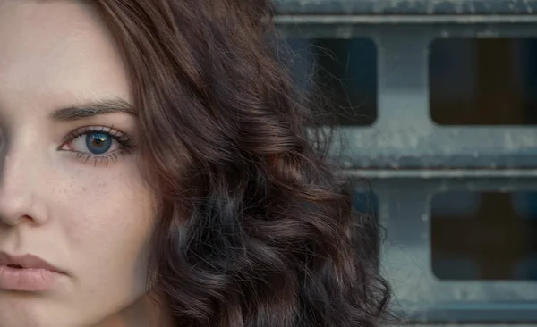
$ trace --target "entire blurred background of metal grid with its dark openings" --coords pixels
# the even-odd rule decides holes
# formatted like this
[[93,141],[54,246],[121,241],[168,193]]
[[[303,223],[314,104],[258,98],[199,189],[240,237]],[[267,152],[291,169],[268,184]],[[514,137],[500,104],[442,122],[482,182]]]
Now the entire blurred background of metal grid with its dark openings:
[[278,0],[408,323],[537,323],[537,2]]

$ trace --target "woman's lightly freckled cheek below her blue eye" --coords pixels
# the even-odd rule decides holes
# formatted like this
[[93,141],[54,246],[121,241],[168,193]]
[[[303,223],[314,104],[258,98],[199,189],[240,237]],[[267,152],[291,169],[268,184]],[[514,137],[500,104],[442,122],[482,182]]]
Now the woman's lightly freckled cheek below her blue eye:
[[103,170],[74,180],[66,205],[72,214],[61,220],[72,259],[95,277],[119,276],[144,264],[155,217],[140,174]]

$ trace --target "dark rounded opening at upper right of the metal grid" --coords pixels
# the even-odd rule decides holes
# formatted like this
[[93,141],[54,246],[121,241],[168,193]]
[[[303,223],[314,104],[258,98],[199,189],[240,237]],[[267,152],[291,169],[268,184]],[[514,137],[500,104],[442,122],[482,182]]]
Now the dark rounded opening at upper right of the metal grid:
[[535,125],[537,38],[446,38],[430,45],[430,115],[440,125]]

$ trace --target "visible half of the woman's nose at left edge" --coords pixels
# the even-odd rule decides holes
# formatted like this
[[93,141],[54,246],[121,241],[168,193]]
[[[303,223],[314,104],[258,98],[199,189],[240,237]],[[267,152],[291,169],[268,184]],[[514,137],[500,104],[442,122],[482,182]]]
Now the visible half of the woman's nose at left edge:
[[[33,147],[35,150],[36,147]],[[47,222],[46,207],[40,202],[43,180],[31,147],[0,147],[0,227]]]

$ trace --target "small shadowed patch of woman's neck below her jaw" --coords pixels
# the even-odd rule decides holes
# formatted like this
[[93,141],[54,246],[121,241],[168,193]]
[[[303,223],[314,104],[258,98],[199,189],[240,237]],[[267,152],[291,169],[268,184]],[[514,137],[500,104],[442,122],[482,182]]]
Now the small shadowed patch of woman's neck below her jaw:
[[95,327],[172,327],[172,320],[149,296],[140,298],[123,311],[98,323]]

